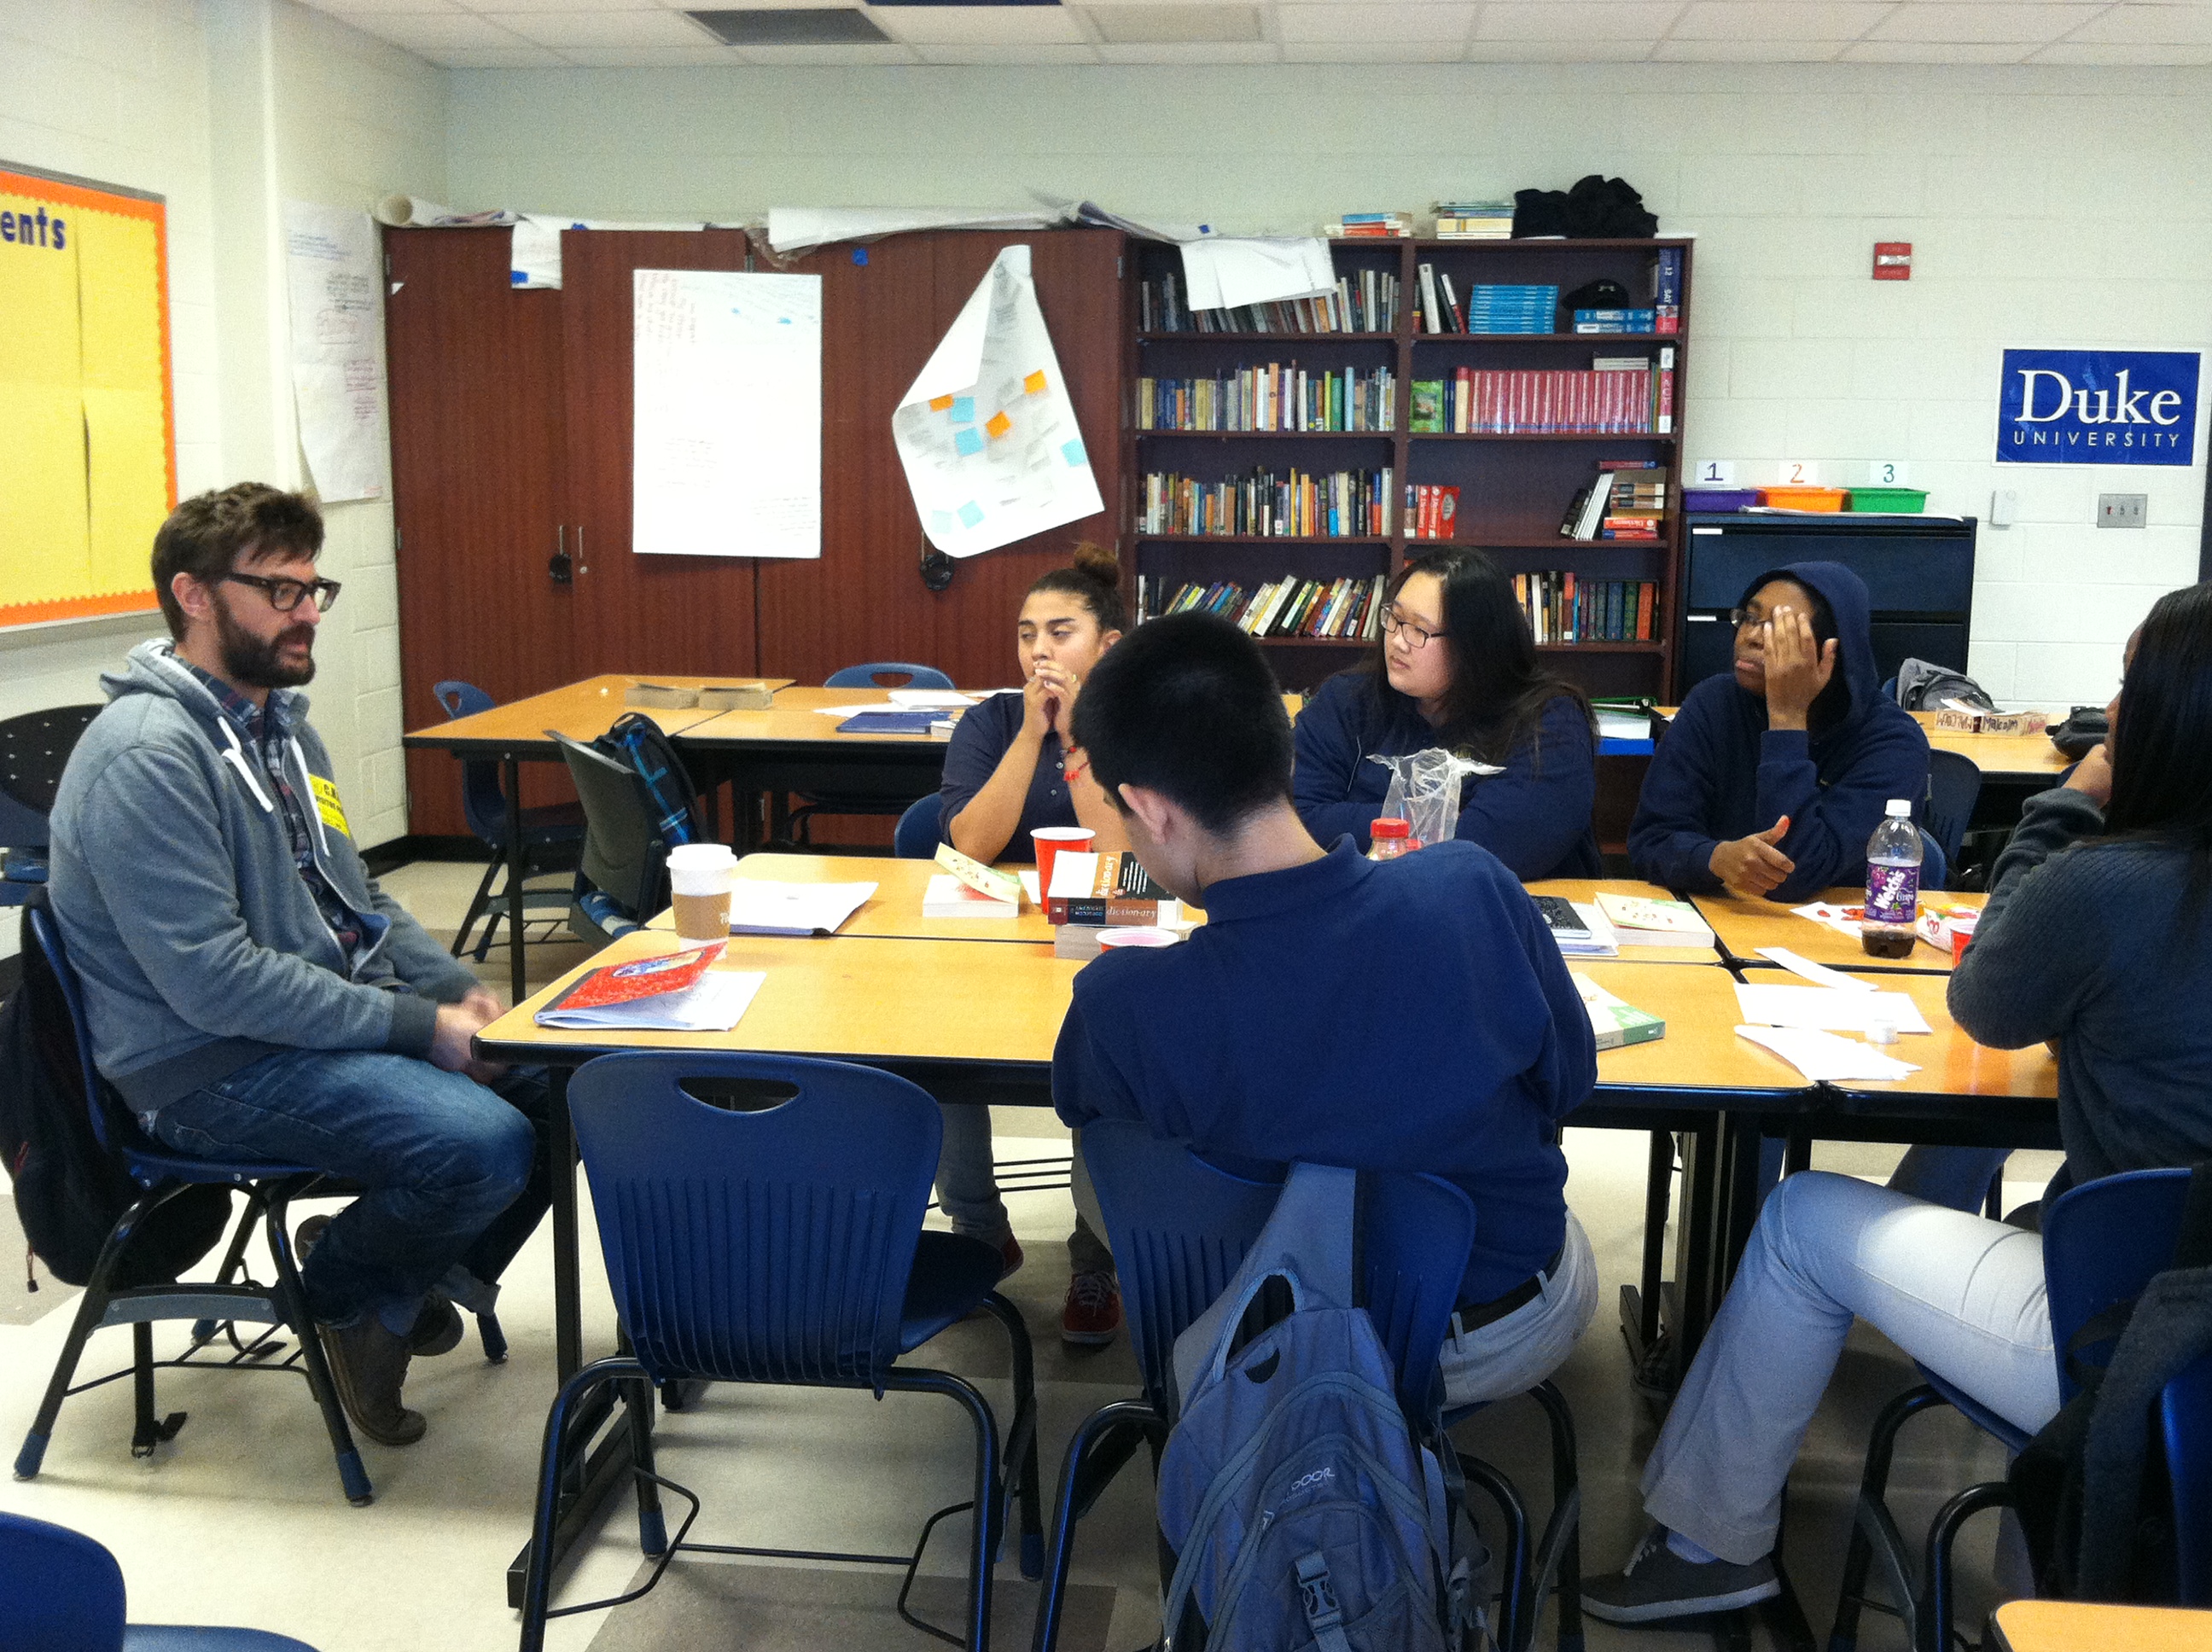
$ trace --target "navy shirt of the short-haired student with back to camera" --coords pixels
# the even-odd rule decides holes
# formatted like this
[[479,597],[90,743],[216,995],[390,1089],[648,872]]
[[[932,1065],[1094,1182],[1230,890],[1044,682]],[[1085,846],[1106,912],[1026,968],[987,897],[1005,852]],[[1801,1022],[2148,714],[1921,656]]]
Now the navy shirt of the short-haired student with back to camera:
[[1555,1123],[1597,1084],[1559,947],[1498,856],[1440,843],[1206,891],[1179,947],[1102,953],[1053,1050],[1066,1123],[1141,1119],[1212,1159],[1427,1170],[1475,1201],[1462,1303],[1566,1236]]

